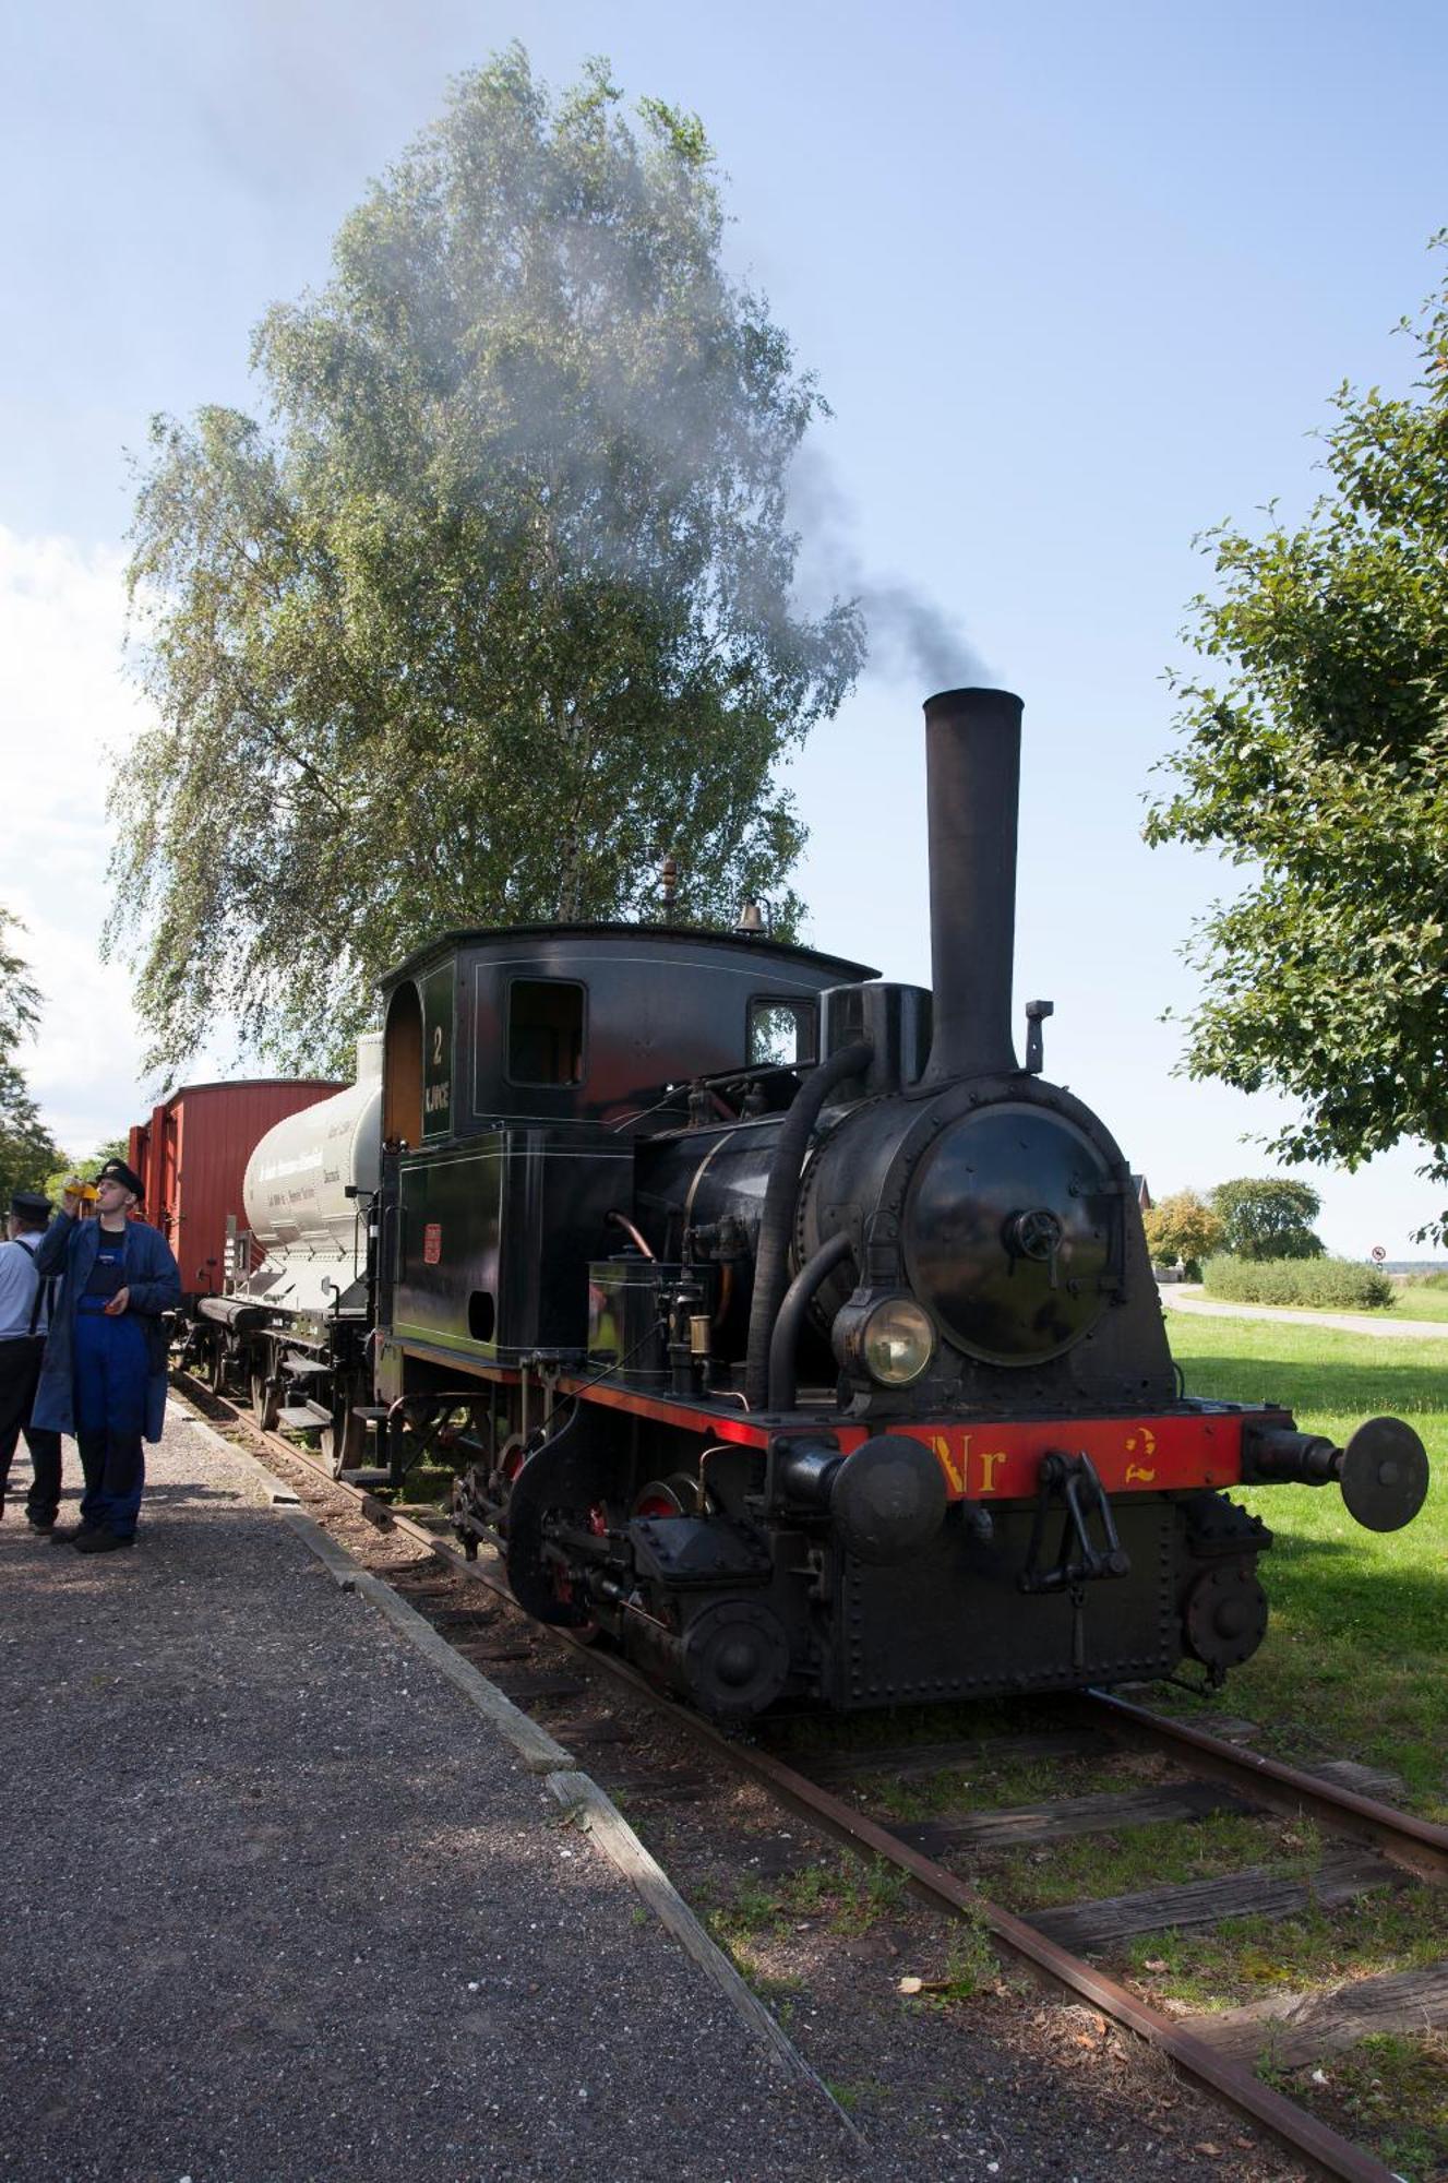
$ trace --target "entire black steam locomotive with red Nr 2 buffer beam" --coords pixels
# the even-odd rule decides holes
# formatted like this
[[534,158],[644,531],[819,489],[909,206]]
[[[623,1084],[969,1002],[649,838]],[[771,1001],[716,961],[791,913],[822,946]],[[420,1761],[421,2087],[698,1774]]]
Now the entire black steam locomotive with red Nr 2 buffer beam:
[[1021,701],[925,707],[931,991],[763,934],[456,932],[388,980],[375,1399],[521,1605],[722,1716],[1169,1674],[1267,1624],[1239,1484],[1346,1447],[1188,1399],[1125,1161],[1012,1035]]

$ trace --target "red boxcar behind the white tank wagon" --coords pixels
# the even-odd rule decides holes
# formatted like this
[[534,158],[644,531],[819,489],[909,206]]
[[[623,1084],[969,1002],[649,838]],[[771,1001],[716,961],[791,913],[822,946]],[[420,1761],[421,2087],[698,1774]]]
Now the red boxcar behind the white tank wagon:
[[146,1185],[146,1220],[177,1253],[185,1292],[220,1288],[227,1214],[242,1220],[242,1174],[266,1131],[345,1089],[294,1076],[181,1085],[135,1124],[126,1159]]

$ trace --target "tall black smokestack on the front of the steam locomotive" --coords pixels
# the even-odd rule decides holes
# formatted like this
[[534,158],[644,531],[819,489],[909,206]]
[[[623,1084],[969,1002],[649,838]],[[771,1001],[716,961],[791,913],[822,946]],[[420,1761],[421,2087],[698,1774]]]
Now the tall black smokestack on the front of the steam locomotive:
[[925,701],[936,1037],[925,1083],[1016,1070],[1021,699],[942,690]]

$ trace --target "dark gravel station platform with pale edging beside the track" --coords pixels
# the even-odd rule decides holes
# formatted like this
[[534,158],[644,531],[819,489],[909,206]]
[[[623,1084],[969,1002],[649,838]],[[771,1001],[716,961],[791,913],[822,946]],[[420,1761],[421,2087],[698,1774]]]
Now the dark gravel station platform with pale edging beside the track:
[[0,2174],[864,2172],[251,1463],[146,1460],[135,1552],[0,1524]]

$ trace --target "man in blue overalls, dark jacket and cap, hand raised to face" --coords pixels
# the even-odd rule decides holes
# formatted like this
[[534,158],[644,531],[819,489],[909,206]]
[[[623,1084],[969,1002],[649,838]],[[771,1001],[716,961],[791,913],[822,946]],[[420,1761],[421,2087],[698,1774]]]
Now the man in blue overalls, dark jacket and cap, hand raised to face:
[[96,1218],[76,1220],[72,1192],[35,1253],[37,1273],[61,1273],[33,1423],[72,1432],[81,1447],[85,1493],[70,1543],[109,1554],[135,1539],[146,1458],[142,1439],[159,1441],[166,1417],[164,1312],[181,1303],[177,1262],[142,1220],[142,1179],[124,1159],[96,1177]]

